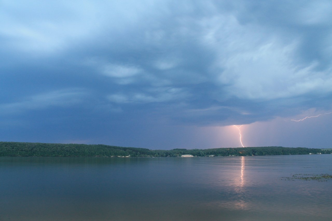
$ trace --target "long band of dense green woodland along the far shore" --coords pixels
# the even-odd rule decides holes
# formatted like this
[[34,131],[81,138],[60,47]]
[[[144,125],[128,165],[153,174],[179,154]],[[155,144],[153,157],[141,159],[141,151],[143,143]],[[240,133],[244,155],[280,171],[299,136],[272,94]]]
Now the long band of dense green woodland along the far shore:
[[208,156],[265,156],[297,154],[330,154],[331,149],[290,148],[290,147],[241,147],[215,149],[173,149],[149,150],[146,148],[117,147],[88,144],[54,144],[0,142],[1,157],[181,157],[191,154]]

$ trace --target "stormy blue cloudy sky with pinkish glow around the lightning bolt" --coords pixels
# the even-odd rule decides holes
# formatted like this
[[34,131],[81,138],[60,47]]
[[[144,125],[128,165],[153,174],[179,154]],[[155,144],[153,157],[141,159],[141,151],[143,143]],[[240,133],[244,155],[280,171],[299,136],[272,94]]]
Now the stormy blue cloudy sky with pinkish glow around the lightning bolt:
[[332,146],[331,1],[0,0],[0,58],[0,141]]

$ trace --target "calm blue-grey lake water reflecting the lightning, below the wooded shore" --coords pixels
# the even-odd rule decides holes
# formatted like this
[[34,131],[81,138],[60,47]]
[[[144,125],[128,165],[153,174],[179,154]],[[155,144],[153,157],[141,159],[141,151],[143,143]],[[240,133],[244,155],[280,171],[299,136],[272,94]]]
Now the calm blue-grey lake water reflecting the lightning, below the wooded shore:
[[332,155],[0,157],[3,220],[331,220]]

